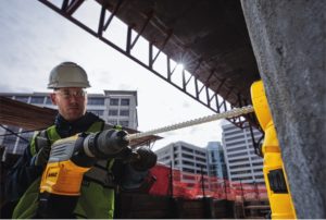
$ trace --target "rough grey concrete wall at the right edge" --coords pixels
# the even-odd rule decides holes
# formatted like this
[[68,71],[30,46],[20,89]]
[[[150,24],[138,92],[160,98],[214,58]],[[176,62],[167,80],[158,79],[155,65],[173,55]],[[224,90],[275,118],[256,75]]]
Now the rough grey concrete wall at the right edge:
[[298,218],[326,218],[326,1],[241,0]]

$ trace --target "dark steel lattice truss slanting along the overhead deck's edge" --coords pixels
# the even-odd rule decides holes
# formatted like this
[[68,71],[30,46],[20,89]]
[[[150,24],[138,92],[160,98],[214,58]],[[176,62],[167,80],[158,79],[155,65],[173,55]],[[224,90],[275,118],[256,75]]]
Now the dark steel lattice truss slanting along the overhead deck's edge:
[[[73,22],[74,24],[76,24],[77,26],[82,27],[83,29],[85,29],[86,32],[88,32],[89,34],[93,35],[95,37],[99,38],[100,40],[102,40],[103,42],[105,42],[106,45],[113,47],[115,50],[120,51],[121,53],[125,54],[126,57],[128,57],[129,59],[131,59],[133,61],[137,62],[138,64],[140,64],[141,66],[146,68],[147,70],[151,71],[152,73],[154,73],[155,75],[158,75],[160,78],[164,80],[165,82],[170,83],[171,85],[173,85],[174,87],[178,88],[179,90],[181,90],[183,93],[187,94],[188,96],[190,96],[191,98],[193,98],[195,100],[199,101],[200,103],[204,105],[205,107],[208,107],[209,109],[213,110],[216,113],[221,113],[224,111],[228,111],[230,109],[233,109],[234,105],[226,105],[226,98],[227,97],[223,97],[222,101],[218,101],[217,98],[217,94],[220,91],[220,88],[226,83],[226,78],[222,78],[218,80],[220,85],[217,87],[216,90],[214,90],[211,96],[209,94],[209,85],[210,85],[210,81],[211,77],[214,75],[214,70],[212,70],[211,74],[208,76],[206,80],[199,80],[199,74],[200,73],[196,73],[197,71],[195,71],[195,73],[190,73],[190,77],[186,78],[185,75],[185,70],[183,71],[183,85],[178,85],[175,81],[173,81],[172,75],[174,74],[176,66],[174,66],[174,69],[172,69],[171,66],[171,57],[166,56],[166,70],[167,70],[167,75],[164,76],[166,73],[163,72],[158,72],[156,70],[153,69],[153,63],[156,61],[158,57],[160,56],[160,53],[162,52],[162,50],[164,49],[166,42],[171,39],[171,36],[173,35],[173,30],[170,29],[166,33],[166,37],[164,39],[164,41],[161,44],[161,47],[158,48],[159,51],[156,52],[156,54],[153,54],[153,41],[149,41],[149,58],[148,58],[148,62],[143,62],[140,59],[138,59],[137,57],[135,57],[134,54],[131,54],[131,50],[134,48],[134,46],[137,44],[138,38],[141,36],[141,33],[145,30],[145,28],[148,26],[149,22],[151,21],[151,19],[154,16],[154,12],[150,12],[147,14],[147,19],[145,21],[145,23],[141,26],[141,30],[140,33],[137,33],[137,36],[133,39],[133,29],[134,26],[133,25],[127,25],[127,34],[126,34],[126,47],[122,48],[120,46],[117,46],[116,44],[114,44],[112,40],[109,40],[108,38],[103,37],[103,33],[104,32],[109,32],[108,27],[110,25],[110,23],[112,22],[112,20],[116,16],[116,13],[118,10],[122,10],[122,4],[123,4],[123,0],[120,0],[118,3],[116,4],[116,7],[112,10],[112,12],[110,12],[108,10],[108,5],[101,5],[101,11],[99,13],[99,22],[98,22],[98,32],[95,32],[92,27],[87,26],[86,24],[84,24],[82,21],[78,21],[77,19],[73,17],[73,13],[75,11],[77,11],[79,9],[79,7],[84,3],[84,0],[62,0],[62,7],[59,8],[55,4],[53,4],[50,0],[39,0],[41,3],[43,3],[45,5],[49,7],[50,9],[52,9],[53,11],[55,11],[57,13],[61,14],[62,16],[66,17],[67,20],[70,20],[71,22]],[[95,1],[98,3],[98,1]],[[111,5],[112,7],[112,5]],[[105,13],[110,12],[110,16],[106,21],[104,21],[105,17]],[[184,51],[183,54],[180,54],[180,58],[186,57],[186,50]],[[176,61],[178,62],[178,61]],[[193,64],[195,62],[197,63],[197,69],[200,66],[201,64],[201,59],[198,59],[197,61],[190,62],[188,64]],[[195,70],[197,70],[195,69]],[[215,76],[215,75],[214,75]],[[191,93],[191,90],[189,89],[189,82],[191,81],[191,78],[193,77],[195,81],[195,91]],[[202,82],[202,86],[199,88],[198,85],[198,81]],[[229,88],[229,91],[226,96],[228,96],[233,90],[233,87]],[[200,96],[201,93],[205,93],[205,95],[203,95],[202,97]],[[195,94],[195,95],[192,95]],[[222,96],[220,96],[222,97]],[[215,100],[216,105],[212,105],[212,101]],[[238,100],[241,100],[241,98],[239,98]],[[235,105],[236,106],[236,105]],[[239,106],[241,107],[241,105]],[[243,120],[244,119],[244,120]],[[243,124],[246,121],[248,121],[249,123],[252,123],[251,120],[249,118],[236,118],[236,119],[229,119],[228,121],[230,121],[231,123],[234,123],[235,125],[237,125],[238,127],[243,127]]]

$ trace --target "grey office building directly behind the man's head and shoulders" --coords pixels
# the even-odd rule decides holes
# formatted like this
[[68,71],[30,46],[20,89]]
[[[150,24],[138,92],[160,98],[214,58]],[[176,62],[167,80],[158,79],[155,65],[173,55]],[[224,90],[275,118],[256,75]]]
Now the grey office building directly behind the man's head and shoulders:
[[[57,109],[49,97],[49,93],[0,93],[17,101]],[[137,130],[137,91],[135,90],[104,90],[104,94],[88,94],[87,110],[99,115],[106,123],[120,124]],[[21,127],[5,126],[0,130],[0,145],[5,147],[5,154],[22,154],[27,146],[33,132]],[[20,138],[13,134],[18,133]]]

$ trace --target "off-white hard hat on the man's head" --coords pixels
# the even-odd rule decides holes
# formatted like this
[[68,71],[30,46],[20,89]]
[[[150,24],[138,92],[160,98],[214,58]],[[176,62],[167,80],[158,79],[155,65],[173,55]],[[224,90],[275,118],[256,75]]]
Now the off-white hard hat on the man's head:
[[63,62],[50,73],[48,88],[90,87],[85,70],[74,62]]

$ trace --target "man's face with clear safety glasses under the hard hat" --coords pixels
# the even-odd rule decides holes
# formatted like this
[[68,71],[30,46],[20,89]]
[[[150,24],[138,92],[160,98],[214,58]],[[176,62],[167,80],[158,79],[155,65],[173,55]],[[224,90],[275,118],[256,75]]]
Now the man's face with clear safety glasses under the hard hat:
[[50,95],[52,103],[66,121],[75,121],[86,112],[87,95],[83,88],[59,88]]

